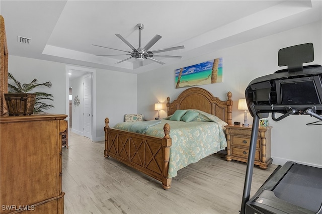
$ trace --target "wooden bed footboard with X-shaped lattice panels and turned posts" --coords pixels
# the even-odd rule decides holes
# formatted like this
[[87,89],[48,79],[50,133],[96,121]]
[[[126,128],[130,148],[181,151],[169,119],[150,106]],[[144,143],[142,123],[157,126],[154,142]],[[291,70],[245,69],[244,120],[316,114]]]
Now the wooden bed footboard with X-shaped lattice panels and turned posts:
[[165,137],[158,138],[144,134],[117,130],[109,127],[105,119],[104,156],[118,161],[162,182],[164,189],[171,188],[168,178],[170,147],[170,125],[164,126]]

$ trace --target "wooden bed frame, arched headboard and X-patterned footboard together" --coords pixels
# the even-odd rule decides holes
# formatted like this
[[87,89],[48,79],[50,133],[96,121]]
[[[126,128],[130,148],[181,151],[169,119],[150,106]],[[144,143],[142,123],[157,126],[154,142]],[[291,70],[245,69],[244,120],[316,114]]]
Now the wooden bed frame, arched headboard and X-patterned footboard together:
[[[231,125],[231,92],[226,101],[214,97],[209,91],[192,87],[183,91],[176,100],[170,103],[168,97],[168,116],[176,110],[198,109],[212,114]],[[158,138],[144,134],[117,130],[109,127],[109,119],[105,119],[104,156],[116,160],[138,171],[161,181],[164,189],[171,188],[172,178],[168,178],[170,147],[170,125],[164,126],[165,137]]]

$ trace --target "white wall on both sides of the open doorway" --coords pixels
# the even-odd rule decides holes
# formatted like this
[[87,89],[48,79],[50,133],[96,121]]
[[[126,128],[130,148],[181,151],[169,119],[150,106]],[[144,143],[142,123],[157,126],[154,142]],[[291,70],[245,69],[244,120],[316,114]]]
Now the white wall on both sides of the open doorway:
[[[79,66],[82,67],[82,66]],[[66,114],[66,64],[9,55],[8,70],[21,82],[30,82],[37,78],[39,82],[51,81],[51,88],[42,91],[54,95],[52,104],[55,108],[48,110],[50,114]],[[96,90],[96,123],[93,124],[93,141],[104,140],[104,120],[110,119],[110,126],[123,121],[124,114],[135,113],[137,109],[137,77],[135,74],[96,69],[94,90]],[[68,82],[68,81],[67,81]],[[83,93],[82,93],[83,94]],[[74,97],[73,97],[74,98]],[[48,102],[51,103],[51,102]],[[75,115],[72,116],[74,118]],[[72,123],[72,126],[76,126]]]

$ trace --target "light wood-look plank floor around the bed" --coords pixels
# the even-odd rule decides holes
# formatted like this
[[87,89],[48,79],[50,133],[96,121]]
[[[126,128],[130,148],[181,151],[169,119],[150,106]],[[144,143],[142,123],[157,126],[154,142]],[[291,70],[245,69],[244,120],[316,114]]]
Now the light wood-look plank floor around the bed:
[[[62,148],[65,213],[239,213],[246,164],[211,155],[173,178],[172,188],[113,158],[104,158],[104,141],[70,133]],[[274,171],[254,168],[251,196]]]

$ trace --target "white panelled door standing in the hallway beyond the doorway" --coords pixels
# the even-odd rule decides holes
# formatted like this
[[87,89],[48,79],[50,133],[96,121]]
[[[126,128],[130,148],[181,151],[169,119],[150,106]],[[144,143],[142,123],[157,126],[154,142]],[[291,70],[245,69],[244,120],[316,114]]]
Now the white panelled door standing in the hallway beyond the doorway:
[[84,136],[92,139],[91,74],[83,76],[84,82]]

